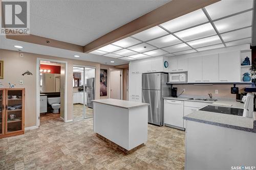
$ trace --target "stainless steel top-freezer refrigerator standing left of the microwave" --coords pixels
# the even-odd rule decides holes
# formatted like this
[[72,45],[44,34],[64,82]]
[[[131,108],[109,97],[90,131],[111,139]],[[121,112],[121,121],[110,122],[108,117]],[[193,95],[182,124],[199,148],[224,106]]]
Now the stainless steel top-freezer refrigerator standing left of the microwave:
[[163,126],[163,98],[170,96],[168,74],[142,74],[142,102],[148,106],[148,123]]

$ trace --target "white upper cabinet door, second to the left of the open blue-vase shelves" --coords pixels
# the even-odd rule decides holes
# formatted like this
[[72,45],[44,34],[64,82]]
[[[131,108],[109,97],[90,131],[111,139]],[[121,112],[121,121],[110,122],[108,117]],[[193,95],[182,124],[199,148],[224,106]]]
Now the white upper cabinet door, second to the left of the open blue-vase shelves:
[[219,81],[219,54],[202,56],[202,82]]

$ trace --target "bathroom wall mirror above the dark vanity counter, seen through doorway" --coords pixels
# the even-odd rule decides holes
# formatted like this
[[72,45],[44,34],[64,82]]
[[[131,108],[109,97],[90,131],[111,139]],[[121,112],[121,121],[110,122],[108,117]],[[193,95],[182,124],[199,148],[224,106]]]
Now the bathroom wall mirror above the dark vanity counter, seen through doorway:
[[60,74],[41,73],[41,92],[60,92]]

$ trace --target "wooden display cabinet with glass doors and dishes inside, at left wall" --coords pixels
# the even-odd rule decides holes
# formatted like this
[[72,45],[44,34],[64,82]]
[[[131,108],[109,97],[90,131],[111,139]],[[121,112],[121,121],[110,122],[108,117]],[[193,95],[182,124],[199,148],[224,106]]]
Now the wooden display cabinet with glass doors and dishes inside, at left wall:
[[0,138],[24,134],[25,88],[0,88]]

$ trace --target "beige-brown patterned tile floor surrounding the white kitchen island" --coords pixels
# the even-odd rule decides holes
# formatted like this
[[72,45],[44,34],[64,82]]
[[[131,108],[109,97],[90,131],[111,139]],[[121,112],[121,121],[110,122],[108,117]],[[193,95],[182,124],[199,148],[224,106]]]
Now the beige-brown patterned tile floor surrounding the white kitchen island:
[[148,125],[148,141],[124,155],[97,138],[93,118],[63,123],[41,116],[41,126],[0,139],[0,169],[184,169],[184,131]]

